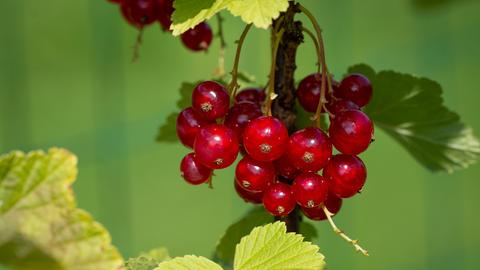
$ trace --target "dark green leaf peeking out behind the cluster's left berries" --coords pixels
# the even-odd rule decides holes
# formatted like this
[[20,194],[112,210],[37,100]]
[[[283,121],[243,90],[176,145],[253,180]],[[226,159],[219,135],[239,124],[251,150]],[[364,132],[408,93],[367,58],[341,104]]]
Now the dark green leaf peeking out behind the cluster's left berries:
[[[197,84],[202,81],[197,82],[183,82],[180,86],[180,98],[177,101],[177,107],[180,110],[183,110],[191,106],[192,103],[192,91],[197,86]],[[167,116],[165,122],[160,126],[158,134],[156,137],[157,142],[177,142],[177,116],[178,113],[174,112]]]

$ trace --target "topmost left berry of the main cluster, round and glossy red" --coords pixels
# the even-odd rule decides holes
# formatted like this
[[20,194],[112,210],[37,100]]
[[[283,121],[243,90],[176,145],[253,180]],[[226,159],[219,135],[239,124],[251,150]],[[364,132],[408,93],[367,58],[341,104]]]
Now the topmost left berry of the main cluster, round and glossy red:
[[207,120],[225,116],[229,102],[227,90],[217,82],[205,81],[193,89],[192,107]]

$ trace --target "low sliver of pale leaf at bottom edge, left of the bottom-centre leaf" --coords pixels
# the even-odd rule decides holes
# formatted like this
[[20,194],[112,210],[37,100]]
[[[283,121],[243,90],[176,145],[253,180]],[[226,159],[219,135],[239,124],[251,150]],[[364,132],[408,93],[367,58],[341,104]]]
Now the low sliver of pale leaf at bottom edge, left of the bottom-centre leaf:
[[222,270],[222,267],[207,258],[188,255],[162,262],[155,270]]

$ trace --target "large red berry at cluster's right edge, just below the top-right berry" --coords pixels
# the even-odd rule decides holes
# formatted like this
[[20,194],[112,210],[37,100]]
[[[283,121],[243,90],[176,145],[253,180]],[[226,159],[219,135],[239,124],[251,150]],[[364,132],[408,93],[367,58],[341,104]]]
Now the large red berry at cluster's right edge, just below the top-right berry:
[[365,151],[372,141],[373,123],[361,111],[343,111],[330,123],[329,134],[338,151],[358,155]]

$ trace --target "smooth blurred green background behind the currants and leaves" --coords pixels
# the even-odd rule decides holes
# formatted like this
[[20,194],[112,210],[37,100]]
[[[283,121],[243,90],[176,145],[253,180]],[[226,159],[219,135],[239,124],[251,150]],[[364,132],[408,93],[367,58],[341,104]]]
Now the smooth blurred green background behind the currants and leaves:
[[[337,77],[365,62],[435,79],[446,104],[479,135],[480,1],[430,2],[302,1],[324,28]],[[76,153],[79,205],[126,257],[157,246],[210,256],[249,206],[233,190],[231,169],[217,173],[214,190],[185,184],[178,164],[188,150],[154,137],[176,110],[180,83],[211,77],[218,42],[208,54],[191,53],[154,25],[131,63],[137,32],[106,1],[2,0],[0,10],[1,152],[61,146]],[[227,68],[242,27],[226,16]],[[253,31],[240,63],[262,84],[268,41],[266,31]],[[307,42],[297,78],[314,71],[313,59]],[[329,269],[478,269],[480,165],[431,174],[380,130],[376,137],[362,155],[365,191],[337,217],[371,256],[316,223]]]

